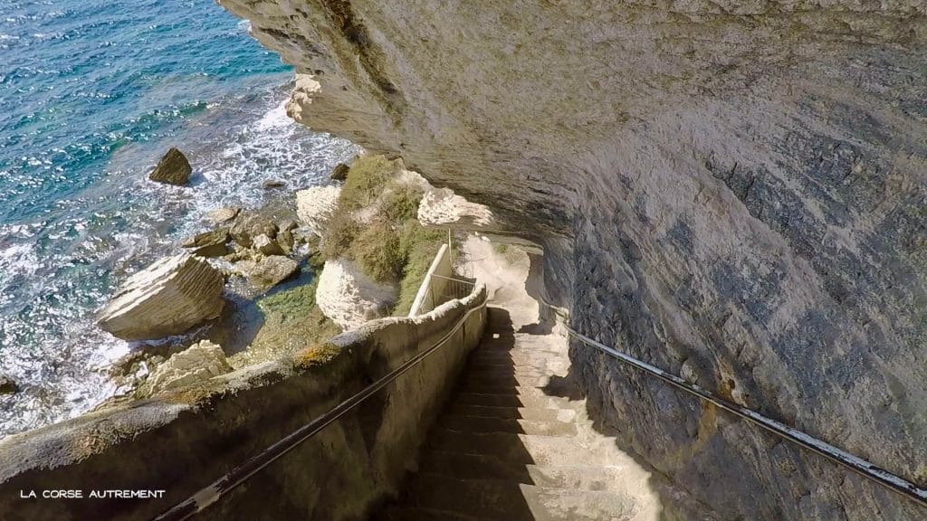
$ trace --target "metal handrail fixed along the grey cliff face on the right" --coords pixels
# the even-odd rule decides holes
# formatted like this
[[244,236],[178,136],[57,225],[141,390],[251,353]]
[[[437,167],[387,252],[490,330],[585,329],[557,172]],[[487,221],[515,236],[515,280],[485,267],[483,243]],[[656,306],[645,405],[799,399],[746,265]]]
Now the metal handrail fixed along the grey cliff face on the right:
[[[554,306],[548,304],[547,302],[544,302],[544,304],[554,308]],[[633,358],[615,348],[604,345],[602,342],[593,340],[590,337],[586,337],[585,335],[578,333],[578,331],[570,327],[569,324],[563,325],[570,335],[582,341],[586,345],[599,349],[605,354],[608,354],[621,362],[625,362],[633,367],[636,367],[648,375],[656,376],[668,384],[676,388],[680,388],[702,400],[710,401],[711,403],[717,405],[717,407],[720,407],[729,413],[733,413],[754,425],[761,426],[776,436],[792,441],[802,448],[816,452],[834,463],[843,465],[844,467],[856,472],[859,476],[870,479],[871,481],[875,481],[879,485],[882,485],[888,489],[892,489],[895,492],[904,495],[908,499],[920,503],[921,506],[927,506],[927,489],[918,487],[904,477],[896,476],[895,474],[892,474],[883,468],[879,468],[878,466],[871,464],[870,462],[858,456],[838,449],[826,441],[814,438],[800,430],[786,426],[785,424],[773,420],[772,418],[768,418],[763,414],[756,413],[756,411],[747,409],[737,405],[736,403],[731,403],[730,401],[724,400],[723,398],[719,398],[704,388],[700,388],[695,384],[690,384],[677,375],[667,373],[659,367],[651,365],[647,362],[641,362],[640,360]]]

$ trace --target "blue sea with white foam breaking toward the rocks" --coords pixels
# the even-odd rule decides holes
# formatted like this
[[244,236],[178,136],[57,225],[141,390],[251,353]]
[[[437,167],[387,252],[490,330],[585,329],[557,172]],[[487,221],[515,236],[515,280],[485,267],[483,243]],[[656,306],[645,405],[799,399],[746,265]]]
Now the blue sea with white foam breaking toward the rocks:
[[[286,118],[293,72],[213,0],[0,0],[0,437],[93,408],[139,349],[94,325],[126,277],[348,142]],[[192,185],[147,181],[169,146]],[[288,193],[288,192],[286,192]]]

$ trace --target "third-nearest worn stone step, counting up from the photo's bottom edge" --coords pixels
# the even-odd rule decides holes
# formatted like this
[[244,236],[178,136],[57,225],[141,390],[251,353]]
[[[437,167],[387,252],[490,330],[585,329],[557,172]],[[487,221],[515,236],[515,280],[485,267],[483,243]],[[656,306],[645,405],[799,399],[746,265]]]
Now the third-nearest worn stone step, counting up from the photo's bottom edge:
[[483,454],[509,464],[601,464],[610,452],[603,447],[584,447],[574,438],[531,434],[464,433],[444,427],[432,429],[425,442],[436,451]]

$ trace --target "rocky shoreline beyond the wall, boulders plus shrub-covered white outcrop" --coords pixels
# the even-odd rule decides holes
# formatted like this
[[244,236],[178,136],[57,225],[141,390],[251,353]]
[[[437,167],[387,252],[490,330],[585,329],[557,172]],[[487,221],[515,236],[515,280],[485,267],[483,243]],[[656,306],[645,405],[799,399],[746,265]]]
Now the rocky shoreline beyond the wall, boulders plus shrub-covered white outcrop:
[[[177,154],[171,149],[166,159],[185,171]],[[137,344],[110,368],[119,390],[98,409],[407,313],[446,241],[417,220],[432,187],[380,156],[339,164],[331,179],[284,204],[214,210],[204,231],[124,281],[97,325]]]

